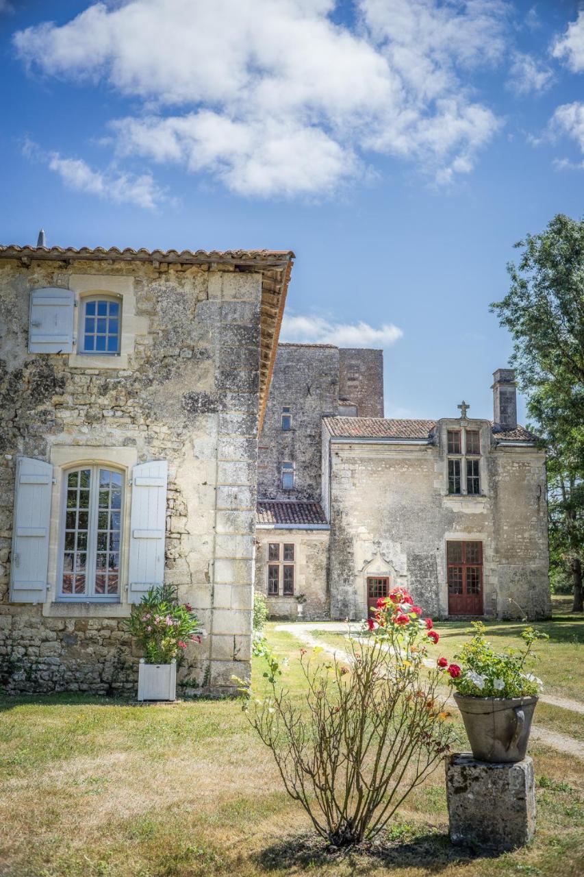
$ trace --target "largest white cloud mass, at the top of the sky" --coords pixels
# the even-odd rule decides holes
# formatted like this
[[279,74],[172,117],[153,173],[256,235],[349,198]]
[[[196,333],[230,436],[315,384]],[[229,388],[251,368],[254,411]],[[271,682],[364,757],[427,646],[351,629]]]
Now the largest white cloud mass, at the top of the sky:
[[[14,36],[32,69],[107,82],[142,110],[118,154],[181,164],[248,196],[329,192],[372,153],[438,182],[474,167],[501,122],[474,100],[502,58],[502,0],[129,0]],[[226,23],[229,23],[226,26]]]

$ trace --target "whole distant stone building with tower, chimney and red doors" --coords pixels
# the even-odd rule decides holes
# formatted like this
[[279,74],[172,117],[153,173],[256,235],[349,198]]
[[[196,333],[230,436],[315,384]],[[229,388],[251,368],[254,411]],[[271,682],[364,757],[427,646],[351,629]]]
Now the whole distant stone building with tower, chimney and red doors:
[[[304,617],[360,619],[401,584],[435,617],[548,616],[545,453],[516,422],[512,370],[495,372],[494,421],[469,417],[466,403],[460,417],[392,420],[363,409],[383,408],[381,352],[339,357],[361,374],[343,398],[334,352],[278,348],[260,434],[255,575],[271,615],[295,617],[302,594]],[[305,375],[317,399],[303,393]]]

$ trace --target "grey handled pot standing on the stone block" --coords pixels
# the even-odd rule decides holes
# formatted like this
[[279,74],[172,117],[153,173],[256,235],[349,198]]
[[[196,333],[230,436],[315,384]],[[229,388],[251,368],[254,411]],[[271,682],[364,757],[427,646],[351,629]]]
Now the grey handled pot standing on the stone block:
[[454,700],[475,759],[509,764],[525,758],[538,695],[470,697],[456,692]]

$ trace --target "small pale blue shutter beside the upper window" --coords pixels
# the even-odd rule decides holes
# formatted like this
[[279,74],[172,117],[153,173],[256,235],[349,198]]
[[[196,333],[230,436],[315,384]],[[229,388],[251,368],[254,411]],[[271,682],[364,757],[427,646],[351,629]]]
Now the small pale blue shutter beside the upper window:
[[32,290],[29,353],[73,352],[74,306],[71,289],[46,287]]

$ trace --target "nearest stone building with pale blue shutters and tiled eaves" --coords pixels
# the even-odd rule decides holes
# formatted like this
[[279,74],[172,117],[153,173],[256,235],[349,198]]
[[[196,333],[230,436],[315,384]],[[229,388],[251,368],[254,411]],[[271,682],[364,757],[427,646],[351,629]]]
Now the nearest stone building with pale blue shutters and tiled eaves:
[[0,685],[135,692],[167,581],[250,668],[258,428],[293,253],[0,247]]

